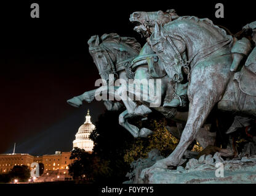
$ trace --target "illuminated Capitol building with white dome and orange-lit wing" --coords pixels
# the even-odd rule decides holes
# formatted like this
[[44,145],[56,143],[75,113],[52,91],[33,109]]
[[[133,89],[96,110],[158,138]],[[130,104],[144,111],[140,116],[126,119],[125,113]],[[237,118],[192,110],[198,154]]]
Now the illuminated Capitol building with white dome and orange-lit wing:
[[[86,121],[82,124],[73,141],[73,148],[78,147],[92,152],[94,141],[89,139],[90,133],[95,129],[90,122],[89,110],[87,111]],[[7,173],[15,165],[26,165],[30,167],[33,162],[44,165],[44,173],[36,181],[60,181],[71,179],[68,175],[68,165],[71,164],[71,152],[55,151],[55,154],[44,154],[42,156],[32,156],[30,154],[16,154],[15,147],[12,154],[0,154],[0,173]],[[57,178],[58,176],[58,178]]]

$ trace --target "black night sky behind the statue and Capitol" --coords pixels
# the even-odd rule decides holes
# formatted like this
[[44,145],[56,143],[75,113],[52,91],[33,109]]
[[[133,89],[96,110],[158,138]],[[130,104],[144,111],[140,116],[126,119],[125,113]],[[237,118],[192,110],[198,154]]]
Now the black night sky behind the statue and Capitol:
[[[30,18],[38,2],[40,18]],[[94,89],[98,76],[89,55],[90,36],[117,32],[145,43],[129,15],[135,11],[175,9],[178,15],[210,18],[235,33],[255,21],[250,1],[223,2],[225,18],[215,18],[216,1],[10,1],[0,3],[0,153],[47,154],[70,151],[87,108],[92,121],[103,113],[102,102],[74,108],[66,100]],[[106,127],[111,132],[111,127]]]

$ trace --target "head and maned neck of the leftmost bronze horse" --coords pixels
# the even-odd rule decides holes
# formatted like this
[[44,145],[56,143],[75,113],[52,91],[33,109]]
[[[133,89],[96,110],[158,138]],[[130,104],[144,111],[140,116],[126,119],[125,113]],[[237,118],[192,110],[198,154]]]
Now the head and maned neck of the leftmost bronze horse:
[[140,44],[131,37],[120,37],[118,34],[103,34],[102,37],[92,36],[88,40],[89,53],[94,59],[98,72],[103,80],[108,81],[109,75],[118,77],[120,70],[117,65],[135,58],[140,51]]

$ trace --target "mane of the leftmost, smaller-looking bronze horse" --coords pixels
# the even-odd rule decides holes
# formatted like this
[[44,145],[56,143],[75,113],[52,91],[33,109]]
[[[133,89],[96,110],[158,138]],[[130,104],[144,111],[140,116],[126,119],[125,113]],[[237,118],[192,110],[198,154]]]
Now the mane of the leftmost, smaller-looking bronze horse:
[[140,43],[137,42],[137,40],[134,37],[121,37],[116,33],[110,33],[110,34],[103,34],[102,37],[100,37],[102,42],[105,42],[107,40],[114,41],[116,43],[125,43],[129,47],[132,47],[137,53],[140,52],[142,47],[140,46]]

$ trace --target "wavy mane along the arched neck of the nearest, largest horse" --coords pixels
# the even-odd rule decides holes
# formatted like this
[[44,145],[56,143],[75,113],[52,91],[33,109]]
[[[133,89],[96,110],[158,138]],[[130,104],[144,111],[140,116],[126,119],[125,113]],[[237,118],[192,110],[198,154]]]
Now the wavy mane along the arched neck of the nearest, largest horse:
[[196,23],[206,24],[206,25],[211,26],[215,30],[217,30],[220,34],[222,34],[222,36],[229,37],[229,38],[232,37],[232,36],[226,34],[226,31],[224,29],[220,28],[217,25],[214,25],[212,20],[210,20],[209,18],[198,18],[198,17],[194,17],[194,16],[184,16],[184,17],[177,18],[177,20],[191,20],[191,21],[194,21]]

